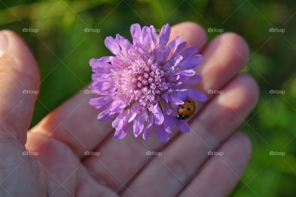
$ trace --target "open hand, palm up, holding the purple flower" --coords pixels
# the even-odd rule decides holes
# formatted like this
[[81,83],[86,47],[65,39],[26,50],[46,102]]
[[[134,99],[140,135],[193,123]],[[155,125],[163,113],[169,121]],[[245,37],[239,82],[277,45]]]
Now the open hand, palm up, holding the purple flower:
[[[154,132],[147,140],[131,132],[114,139],[112,120],[97,121],[99,111],[88,104],[96,95],[84,90],[27,132],[38,95],[23,90],[39,90],[38,65],[24,40],[0,31],[0,196],[228,196],[252,152],[250,139],[236,133],[258,99],[255,80],[238,74],[249,48],[235,33],[209,41],[193,22],[173,26],[171,40],[178,35],[204,57],[196,69],[204,80],[194,88],[224,93],[207,94],[209,100],[198,103],[189,119],[190,133],[175,129],[163,145]],[[38,155],[23,155],[26,149]],[[85,151],[100,155],[85,156]],[[208,156],[208,151],[224,155]]]

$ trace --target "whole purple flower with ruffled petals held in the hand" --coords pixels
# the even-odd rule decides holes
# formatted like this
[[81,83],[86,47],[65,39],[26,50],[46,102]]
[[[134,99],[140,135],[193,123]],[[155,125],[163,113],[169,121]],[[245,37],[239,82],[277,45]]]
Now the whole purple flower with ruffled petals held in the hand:
[[89,104],[102,110],[100,121],[116,116],[112,123],[115,138],[125,137],[132,125],[135,137],[143,131],[146,139],[154,128],[158,138],[166,142],[172,125],[184,133],[190,130],[187,121],[176,118],[179,105],[189,98],[200,102],[207,99],[187,87],[202,80],[194,71],[202,56],[196,55],[196,46],[181,52],[186,42],[181,42],[180,36],[167,43],[170,32],[169,24],[162,26],[159,35],[152,25],[141,29],[133,24],[133,44],[119,34],[115,39],[109,36],[105,45],[115,56],[90,60],[94,72],[90,88],[101,97],[90,99]]

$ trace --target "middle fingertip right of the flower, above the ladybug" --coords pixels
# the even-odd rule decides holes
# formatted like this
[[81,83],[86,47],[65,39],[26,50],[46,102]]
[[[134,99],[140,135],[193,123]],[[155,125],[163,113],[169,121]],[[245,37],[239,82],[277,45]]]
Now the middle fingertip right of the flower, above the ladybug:
[[195,85],[195,89],[212,98],[245,65],[249,58],[249,46],[244,38],[236,33],[224,33],[216,36],[204,50],[203,61],[196,72],[204,79]]

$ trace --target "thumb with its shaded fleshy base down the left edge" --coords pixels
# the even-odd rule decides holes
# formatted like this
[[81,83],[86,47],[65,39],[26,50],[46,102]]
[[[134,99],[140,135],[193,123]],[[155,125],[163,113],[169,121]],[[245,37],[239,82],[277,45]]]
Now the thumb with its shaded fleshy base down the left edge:
[[39,81],[37,63],[23,39],[0,31],[0,149],[5,150],[0,151],[0,196],[45,195],[37,162],[23,155]]

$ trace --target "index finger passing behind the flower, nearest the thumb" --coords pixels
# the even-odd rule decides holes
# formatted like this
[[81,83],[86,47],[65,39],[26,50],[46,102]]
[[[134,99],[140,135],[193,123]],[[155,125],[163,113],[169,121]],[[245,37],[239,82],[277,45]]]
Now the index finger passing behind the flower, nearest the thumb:
[[[205,30],[193,22],[183,22],[173,26],[172,34],[175,36],[177,33],[182,36],[183,40],[188,41],[188,46],[196,45],[201,50],[206,43]],[[99,122],[97,120],[98,110],[88,104],[89,99],[97,97],[97,94],[85,94],[84,90],[49,113],[31,130],[62,141],[80,157],[85,156],[84,151],[95,149],[108,137],[113,138],[112,132],[114,131],[111,127],[113,120],[105,123]],[[130,140],[134,141],[134,138]]]

